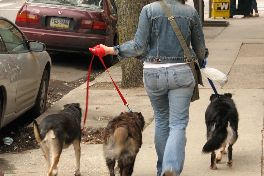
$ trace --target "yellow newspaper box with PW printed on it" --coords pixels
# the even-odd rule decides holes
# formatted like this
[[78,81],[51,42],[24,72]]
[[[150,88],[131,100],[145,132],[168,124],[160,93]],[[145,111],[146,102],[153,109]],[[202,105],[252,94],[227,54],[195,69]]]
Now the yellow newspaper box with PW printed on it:
[[229,19],[230,0],[212,0],[211,17],[223,17]]

